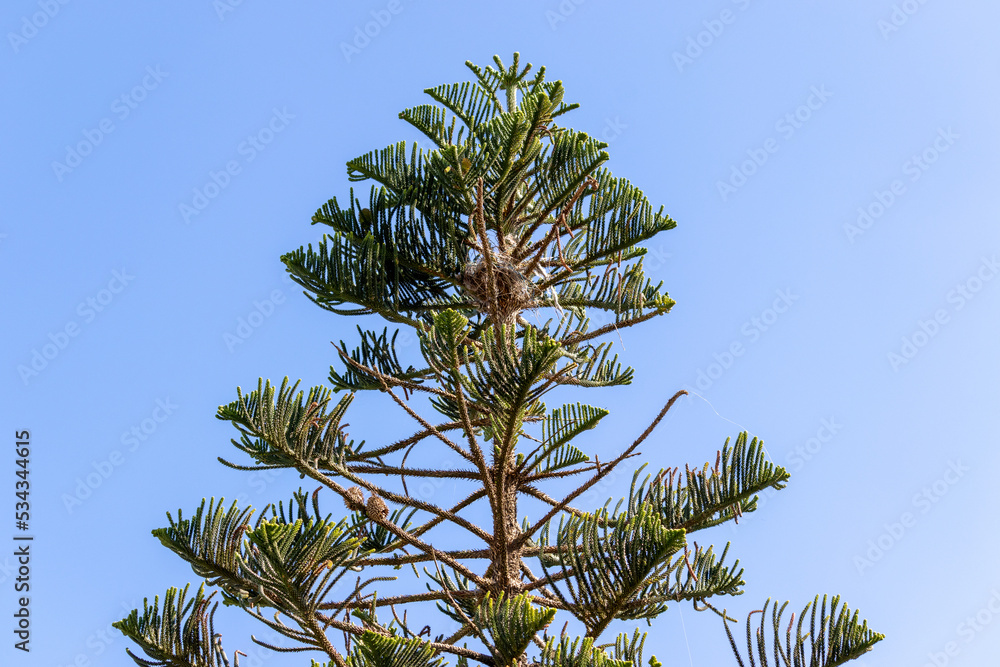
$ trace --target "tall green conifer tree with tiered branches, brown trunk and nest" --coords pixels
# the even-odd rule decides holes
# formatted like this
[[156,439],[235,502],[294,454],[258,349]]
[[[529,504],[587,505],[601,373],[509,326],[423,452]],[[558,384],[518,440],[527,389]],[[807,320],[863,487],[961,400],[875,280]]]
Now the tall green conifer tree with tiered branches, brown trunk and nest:
[[[640,480],[643,465],[613,508],[577,506],[640,454],[685,393],[607,461],[574,444],[606,410],[546,403],[563,387],[631,382],[608,334],[670,311],[662,283],[644,273],[642,244],[675,223],[612,176],[604,142],[560,124],[576,107],[562,83],[544,68],[532,75],[517,54],[510,67],[494,60],[467,63],[472,81],[427,89],[431,103],[400,114],[430,148],[399,142],[348,162],[367,196],[351,190],[324,204],[313,216],[328,228],[322,241],[282,257],[317,305],[370,317],[355,343],[334,343],[328,387],[300,390],[286,378],[237,389],[217,416],[236,428],[242,460],[220,461],[293,469],[316,488],[256,518],[215,499],[168,514],[153,534],[204,583],[193,599],[171,588],[115,624],[148,656],[133,655],[139,664],[229,666],[206,585],[283,638],[253,641],[318,653],[317,667],[658,667],[644,662],[638,629],[605,635],[685,602],[723,619],[744,664],[717,606],[743,593],[743,569],[727,563],[728,545],[717,554],[689,540],[755,511],[757,494],[783,488],[788,472],[741,433],[714,465]],[[380,329],[368,328],[373,320]],[[401,330],[419,342],[406,359]],[[351,439],[345,418],[360,391],[412,419],[412,435]],[[447,506],[411,492],[435,480],[464,486],[465,497]],[[390,584],[403,568],[418,577],[422,568],[425,583]],[[784,610],[768,601],[751,612],[749,664],[832,667],[882,639],[839,598],[828,610],[817,597],[782,635]],[[550,634],[557,617],[583,635],[568,623]]]

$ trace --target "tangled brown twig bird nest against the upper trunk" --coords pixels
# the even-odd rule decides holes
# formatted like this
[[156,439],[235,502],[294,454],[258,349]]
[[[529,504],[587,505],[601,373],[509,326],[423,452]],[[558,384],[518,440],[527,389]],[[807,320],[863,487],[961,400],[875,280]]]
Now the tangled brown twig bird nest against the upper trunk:
[[[496,287],[495,302],[490,285],[490,264]],[[495,323],[513,324],[522,310],[538,305],[538,290],[534,283],[501,253],[492,252],[489,264],[483,257],[466,264],[462,269],[462,286],[479,306],[479,310],[489,315]]]

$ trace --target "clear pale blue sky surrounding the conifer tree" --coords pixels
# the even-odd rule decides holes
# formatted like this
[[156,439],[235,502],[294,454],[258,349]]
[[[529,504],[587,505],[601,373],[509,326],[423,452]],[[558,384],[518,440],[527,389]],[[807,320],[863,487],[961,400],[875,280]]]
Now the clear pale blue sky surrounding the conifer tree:
[[[586,395],[612,412],[583,446],[610,456],[691,388],[643,448],[651,469],[714,461],[747,429],[792,473],[738,528],[697,535],[746,568],[722,606],[839,593],[887,636],[854,664],[992,664],[998,22],[985,0],[4,3],[0,662],[133,664],[109,624],[195,580],[150,535],[165,512],[298,487],[216,461],[237,458],[214,417],[237,386],[322,384],[330,341],[355,335],[278,258],[320,237],[345,161],[417,138],[397,114],[424,88],[516,50],[678,221],[646,264],[677,305],[623,333],[635,382]],[[370,443],[412,428],[380,396],[348,421]],[[9,629],[22,429],[30,655]],[[254,647],[267,635],[237,610],[219,624],[243,664],[307,664]],[[689,605],[653,622],[650,653],[735,664]]]

